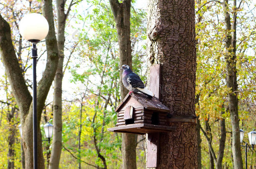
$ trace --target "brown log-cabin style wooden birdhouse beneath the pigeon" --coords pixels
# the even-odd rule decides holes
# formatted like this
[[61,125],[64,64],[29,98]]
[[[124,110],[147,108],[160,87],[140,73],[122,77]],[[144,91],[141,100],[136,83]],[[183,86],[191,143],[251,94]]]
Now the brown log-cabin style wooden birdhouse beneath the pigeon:
[[127,94],[115,110],[116,127],[108,131],[146,134],[174,130],[167,126],[167,113],[170,111],[156,97],[148,98],[143,93]]

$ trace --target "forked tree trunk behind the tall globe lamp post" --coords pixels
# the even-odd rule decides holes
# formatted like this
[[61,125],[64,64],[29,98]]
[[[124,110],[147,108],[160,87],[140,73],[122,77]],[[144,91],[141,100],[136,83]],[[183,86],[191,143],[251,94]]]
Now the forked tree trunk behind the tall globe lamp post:
[[[44,107],[44,101],[52,84],[57,67],[57,42],[55,38],[52,1],[44,1],[44,16],[49,22],[49,33],[46,37],[47,63],[42,79],[37,87],[37,119],[40,126],[40,119]],[[23,148],[25,152],[25,168],[33,168],[33,125],[32,125],[32,97],[26,86],[21,68],[16,57],[13,43],[10,36],[10,25],[0,15],[0,54],[5,67],[5,72],[10,81],[13,94],[16,98],[21,112],[21,125],[23,130]],[[38,169],[44,169],[44,158],[42,153],[42,135],[38,128]]]

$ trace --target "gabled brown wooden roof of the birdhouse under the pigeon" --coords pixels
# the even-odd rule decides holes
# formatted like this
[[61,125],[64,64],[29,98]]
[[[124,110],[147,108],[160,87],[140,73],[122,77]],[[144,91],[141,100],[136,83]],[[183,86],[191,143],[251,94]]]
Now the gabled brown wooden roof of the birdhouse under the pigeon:
[[[120,111],[125,105],[132,105],[134,101],[137,101],[142,107],[153,110],[153,111],[162,111],[162,112],[169,112],[170,109],[163,105],[158,98],[148,98],[143,93],[131,93],[127,94],[123,101],[118,105],[115,111]],[[131,103],[130,103],[131,102]],[[132,105],[133,106],[133,105]],[[136,108],[136,107],[135,107]]]

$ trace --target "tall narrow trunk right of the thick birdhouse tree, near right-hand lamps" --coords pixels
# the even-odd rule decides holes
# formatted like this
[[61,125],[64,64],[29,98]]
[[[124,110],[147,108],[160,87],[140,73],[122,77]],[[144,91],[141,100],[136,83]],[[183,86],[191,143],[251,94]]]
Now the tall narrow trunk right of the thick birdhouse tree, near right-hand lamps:
[[[234,2],[234,11],[236,10],[236,0]],[[228,108],[230,111],[231,124],[232,124],[232,154],[235,169],[243,169],[242,154],[240,149],[240,129],[238,117],[238,84],[237,84],[237,70],[236,70],[236,15],[233,13],[232,25],[230,14],[226,10],[228,8],[228,0],[224,1],[224,15],[226,25],[226,63],[227,63],[227,88],[230,88],[228,94]],[[231,28],[232,26],[232,28]],[[232,30],[232,31],[231,31]]]

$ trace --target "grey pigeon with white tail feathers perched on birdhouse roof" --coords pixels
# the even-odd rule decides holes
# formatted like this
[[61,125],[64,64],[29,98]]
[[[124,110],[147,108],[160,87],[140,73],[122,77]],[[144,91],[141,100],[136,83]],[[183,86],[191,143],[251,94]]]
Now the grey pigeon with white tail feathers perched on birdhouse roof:
[[125,88],[127,88],[130,92],[129,94],[135,92],[144,93],[148,98],[152,98],[154,95],[151,91],[145,88],[143,81],[141,81],[140,76],[131,71],[131,68],[128,65],[123,65],[120,70],[123,69],[122,81]]

